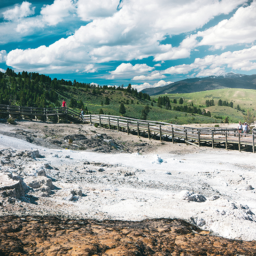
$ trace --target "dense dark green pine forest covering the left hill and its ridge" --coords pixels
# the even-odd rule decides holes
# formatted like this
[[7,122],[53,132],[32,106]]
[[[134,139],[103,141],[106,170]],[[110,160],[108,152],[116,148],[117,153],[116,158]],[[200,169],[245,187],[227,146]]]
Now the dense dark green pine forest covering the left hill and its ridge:
[[[66,81],[33,72],[16,72],[7,68],[6,72],[0,72],[0,104],[20,105],[28,107],[60,107],[62,95],[70,91],[70,86],[84,88],[85,92],[101,95],[105,90],[124,91],[139,100],[150,101],[147,93],[138,92],[129,84],[122,86],[95,85],[79,83],[76,80]],[[106,102],[107,103],[107,102]],[[109,103],[107,103],[109,104]],[[81,100],[70,98],[70,108],[84,108]]]

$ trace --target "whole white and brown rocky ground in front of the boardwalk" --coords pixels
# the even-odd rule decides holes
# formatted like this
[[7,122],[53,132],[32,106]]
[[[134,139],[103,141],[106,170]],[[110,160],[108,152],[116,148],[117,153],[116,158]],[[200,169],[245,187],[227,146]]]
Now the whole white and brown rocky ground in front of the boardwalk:
[[3,120],[0,256],[256,255],[254,159]]

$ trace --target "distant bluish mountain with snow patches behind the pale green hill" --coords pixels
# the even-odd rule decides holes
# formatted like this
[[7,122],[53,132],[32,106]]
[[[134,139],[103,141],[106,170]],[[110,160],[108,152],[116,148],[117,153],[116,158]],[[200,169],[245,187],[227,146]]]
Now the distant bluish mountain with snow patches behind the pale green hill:
[[169,85],[146,88],[142,93],[159,95],[165,93],[196,93],[208,90],[240,88],[256,89],[256,75],[242,75],[236,73],[220,73],[205,78],[188,78]]

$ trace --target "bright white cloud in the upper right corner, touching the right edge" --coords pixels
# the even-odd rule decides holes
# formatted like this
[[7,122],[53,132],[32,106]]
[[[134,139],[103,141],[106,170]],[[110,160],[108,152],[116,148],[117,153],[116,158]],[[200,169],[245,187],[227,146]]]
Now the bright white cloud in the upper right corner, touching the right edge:
[[256,40],[256,1],[250,6],[240,7],[229,20],[222,20],[206,31],[198,32],[202,37],[199,46],[209,45],[216,49],[228,45],[252,43]]

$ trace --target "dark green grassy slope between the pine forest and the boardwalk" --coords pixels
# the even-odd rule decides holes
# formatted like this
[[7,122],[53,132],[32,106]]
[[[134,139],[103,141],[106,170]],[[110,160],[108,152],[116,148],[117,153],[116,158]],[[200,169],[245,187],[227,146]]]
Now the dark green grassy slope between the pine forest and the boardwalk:
[[[141,111],[144,109],[145,105],[149,105],[150,111],[147,116],[147,120],[163,121],[173,124],[191,124],[191,123],[215,123],[216,119],[208,116],[202,115],[191,115],[184,112],[166,110],[156,107],[156,103],[152,107],[151,101],[143,101],[137,98],[133,98],[131,94],[124,91],[116,90],[105,90],[101,91],[101,94],[93,94],[92,90],[86,90],[85,88],[77,88],[69,86],[65,93],[60,92],[61,98],[67,101],[69,106],[70,98],[73,97],[77,101],[82,100],[85,106],[88,108],[90,113],[99,114],[100,109],[103,110],[104,114],[110,114],[114,116],[120,116],[119,107],[121,101],[129,101],[130,104],[125,104],[126,113],[125,116],[132,118],[141,118]],[[105,101],[105,98],[109,97],[109,105],[101,105]],[[131,104],[133,100],[134,104]],[[79,109],[76,109],[79,111]]]

